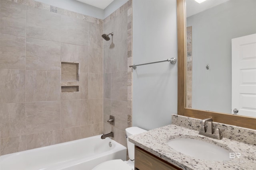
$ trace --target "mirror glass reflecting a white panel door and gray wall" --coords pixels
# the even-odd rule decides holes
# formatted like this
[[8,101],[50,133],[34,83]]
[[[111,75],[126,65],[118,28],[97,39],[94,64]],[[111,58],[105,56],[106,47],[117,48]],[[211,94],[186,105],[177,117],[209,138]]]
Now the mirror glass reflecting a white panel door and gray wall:
[[[186,108],[256,117],[256,39],[247,38],[256,33],[256,0],[186,0],[186,14]],[[249,64],[237,71],[232,61],[240,54]]]

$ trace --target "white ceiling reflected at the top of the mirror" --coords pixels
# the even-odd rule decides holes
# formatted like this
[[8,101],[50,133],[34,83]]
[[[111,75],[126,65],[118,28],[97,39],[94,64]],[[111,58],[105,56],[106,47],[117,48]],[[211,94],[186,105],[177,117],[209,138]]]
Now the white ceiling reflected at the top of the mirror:
[[195,0],[186,0],[186,17],[190,17],[227,1],[229,0],[206,0],[199,4]]

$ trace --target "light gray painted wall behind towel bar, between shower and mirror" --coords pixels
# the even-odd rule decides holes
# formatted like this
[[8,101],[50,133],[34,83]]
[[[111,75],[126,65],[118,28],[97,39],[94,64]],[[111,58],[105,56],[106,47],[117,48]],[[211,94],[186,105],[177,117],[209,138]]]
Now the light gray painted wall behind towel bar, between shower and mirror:
[[[133,64],[177,58],[176,0],[133,0]],[[132,126],[149,130],[177,113],[177,63],[133,70]]]

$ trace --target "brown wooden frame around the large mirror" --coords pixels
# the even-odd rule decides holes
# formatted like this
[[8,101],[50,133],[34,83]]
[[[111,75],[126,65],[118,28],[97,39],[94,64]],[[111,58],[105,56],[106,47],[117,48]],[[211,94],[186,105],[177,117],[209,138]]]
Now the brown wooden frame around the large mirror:
[[178,115],[205,119],[213,117],[213,121],[256,129],[256,118],[213,111],[185,108],[186,102],[186,4],[185,0],[177,0],[177,32],[178,32]]

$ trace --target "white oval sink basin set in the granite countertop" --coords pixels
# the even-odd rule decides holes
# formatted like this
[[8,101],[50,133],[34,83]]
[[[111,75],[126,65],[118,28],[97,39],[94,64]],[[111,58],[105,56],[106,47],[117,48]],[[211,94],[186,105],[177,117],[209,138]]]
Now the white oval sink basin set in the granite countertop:
[[198,139],[174,138],[167,141],[173,149],[201,160],[229,160],[230,150]]

